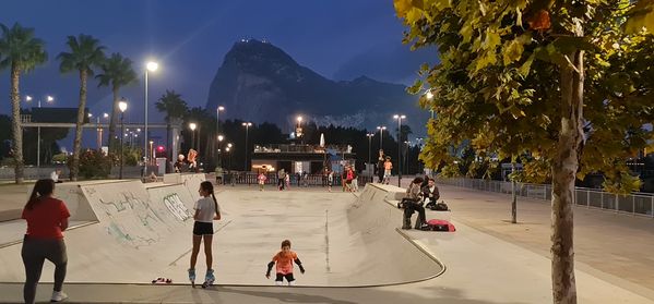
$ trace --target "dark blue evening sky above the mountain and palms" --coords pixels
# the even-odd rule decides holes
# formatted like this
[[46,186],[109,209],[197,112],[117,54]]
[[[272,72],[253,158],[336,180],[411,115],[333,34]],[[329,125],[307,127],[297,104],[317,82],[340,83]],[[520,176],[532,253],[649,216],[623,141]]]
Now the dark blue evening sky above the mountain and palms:
[[[419,63],[433,62],[436,53],[409,52],[402,45],[404,27],[391,0],[329,1],[150,1],[62,0],[3,1],[0,23],[33,27],[46,42],[48,63],[25,75],[21,95],[53,95],[59,107],[76,107],[76,73],[59,73],[57,54],[66,37],[87,34],[120,52],[134,69],[144,71],[147,59],[159,63],[150,74],[150,121],[162,121],[154,102],[175,89],[190,106],[204,106],[209,86],[223,57],[242,38],[266,39],[328,78],[359,75],[411,84]],[[126,121],[143,120],[143,72],[140,82],[121,90],[130,102]],[[0,72],[0,113],[9,113],[9,71]],[[92,113],[110,110],[110,90],[90,82]],[[131,105],[134,104],[134,105]],[[228,109],[227,109],[228,110]],[[72,132],[71,132],[72,133]]]

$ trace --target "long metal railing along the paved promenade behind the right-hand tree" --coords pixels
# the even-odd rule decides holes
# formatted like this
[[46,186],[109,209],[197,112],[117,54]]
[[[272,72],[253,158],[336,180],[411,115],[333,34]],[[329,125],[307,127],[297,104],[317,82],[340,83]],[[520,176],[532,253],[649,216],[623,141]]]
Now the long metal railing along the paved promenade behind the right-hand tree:
[[[511,194],[511,182],[440,178],[437,179],[437,182],[466,189]],[[516,183],[515,190],[518,196],[544,200],[551,199],[551,185]],[[574,204],[587,208],[654,218],[654,195],[652,194],[632,193],[630,195],[617,195],[598,190],[575,187]]]

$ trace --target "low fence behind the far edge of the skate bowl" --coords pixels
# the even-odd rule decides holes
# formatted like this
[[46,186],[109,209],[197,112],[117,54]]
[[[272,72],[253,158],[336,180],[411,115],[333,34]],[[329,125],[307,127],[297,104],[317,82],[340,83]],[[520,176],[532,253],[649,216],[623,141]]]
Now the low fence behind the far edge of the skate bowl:
[[[231,172],[224,173],[222,175],[217,175],[218,183],[222,184],[246,184],[246,185],[255,185],[258,184],[259,174],[252,172]],[[265,184],[266,185],[276,185],[277,184],[277,174],[269,173],[266,174]],[[357,182],[359,186],[365,186],[367,182],[372,181],[370,177],[359,175],[357,177]],[[323,174],[307,174],[307,175],[298,175],[298,174],[289,174],[289,183],[292,186],[328,186],[328,178]],[[338,174],[334,174],[332,186],[341,186],[342,180]]]

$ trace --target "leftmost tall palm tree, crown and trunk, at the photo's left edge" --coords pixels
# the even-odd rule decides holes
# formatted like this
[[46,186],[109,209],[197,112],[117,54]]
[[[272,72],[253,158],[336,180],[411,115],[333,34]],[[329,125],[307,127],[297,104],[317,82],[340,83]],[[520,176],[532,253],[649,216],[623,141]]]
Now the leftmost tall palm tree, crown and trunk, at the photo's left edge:
[[21,73],[27,73],[37,65],[44,64],[48,54],[41,39],[34,37],[34,28],[22,27],[14,23],[10,28],[0,24],[2,37],[0,38],[0,70],[11,69],[11,107],[12,107],[12,150],[15,160],[14,179],[17,184],[23,183],[23,133],[21,127]]

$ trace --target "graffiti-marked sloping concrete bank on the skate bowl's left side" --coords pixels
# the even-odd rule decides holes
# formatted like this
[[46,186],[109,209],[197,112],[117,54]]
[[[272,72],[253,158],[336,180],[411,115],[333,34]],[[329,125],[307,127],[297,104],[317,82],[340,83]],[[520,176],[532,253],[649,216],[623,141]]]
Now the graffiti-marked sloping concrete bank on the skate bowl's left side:
[[[64,233],[67,282],[148,282],[187,252],[194,199],[183,183],[121,181],[80,184],[79,190],[84,199],[70,207],[82,211],[71,210],[71,219],[95,221]],[[20,251],[21,244],[0,250],[0,281],[24,281]],[[44,273],[51,270],[46,263]],[[43,281],[51,281],[48,277],[44,275]]]

